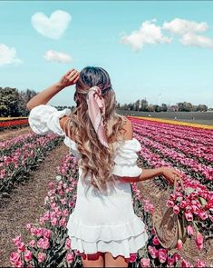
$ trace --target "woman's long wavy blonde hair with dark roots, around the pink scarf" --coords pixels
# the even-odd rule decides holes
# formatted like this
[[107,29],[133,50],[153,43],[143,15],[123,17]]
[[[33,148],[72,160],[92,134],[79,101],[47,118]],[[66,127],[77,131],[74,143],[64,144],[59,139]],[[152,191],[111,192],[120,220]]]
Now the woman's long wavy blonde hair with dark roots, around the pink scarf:
[[[99,86],[102,90],[105,102],[103,123],[109,148],[99,141],[88,113],[86,97],[88,90],[94,85]],[[70,115],[73,126],[69,130],[71,136],[75,138],[78,151],[82,154],[82,158],[78,162],[79,167],[82,168],[82,180],[85,183],[86,175],[91,174],[91,184],[100,191],[106,191],[107,183],[114,181],[111,173],[115,153],[113,144],[124,141],[121,130],[126,122],[125,116],[116,113],[116,96],[107,71],[102,67],[87,66],[83,68],[75,84],[73,99],[77,105]]]

